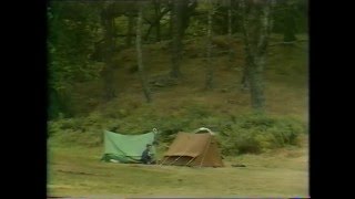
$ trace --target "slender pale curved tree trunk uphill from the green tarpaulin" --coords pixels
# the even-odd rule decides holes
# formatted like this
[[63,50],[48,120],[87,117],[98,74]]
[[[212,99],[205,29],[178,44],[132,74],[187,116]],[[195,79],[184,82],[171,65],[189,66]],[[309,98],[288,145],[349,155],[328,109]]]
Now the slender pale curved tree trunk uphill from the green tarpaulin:
[[136,56],[138,56],[138,69],[141,78],[141,84],[143,87],[144,96],[148,103],[151,102],[151,92],[148,85],[144,65],[143,65],[143,57],[142,57],[142,8],[139,10],[138,21],[136,21],[136,38],[135,38],[135,46],[136,46]]

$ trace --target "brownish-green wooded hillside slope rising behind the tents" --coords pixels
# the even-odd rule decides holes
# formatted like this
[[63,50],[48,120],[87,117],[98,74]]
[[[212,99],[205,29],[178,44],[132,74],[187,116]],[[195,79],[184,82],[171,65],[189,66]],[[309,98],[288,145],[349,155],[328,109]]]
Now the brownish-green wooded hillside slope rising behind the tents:
[[[271,43],[280,41],[281,35],[271,39]],[[138,73],[134,72],[135,51],[125,50],[116,55],[114,84],[118,97],[108,103],[102,100],[101,80],[74,85],[71,105],[79,114],[73,118],[50,122],[49,133],[60,136],[64,132],[73,133],[70,136],[72,138],[68,138],[73,140],[81,136],[75,133],[87,133],[82,136],[84,140],[99,145],[102,129],[141,133],[155,127],[161,130],[189,132],[206,126],[220,130],[221,126],[251,111],[250,92],[241,90],[244,64],[241,39],[237,38],[233,45],[236,51],[233,62],[229,61],[227,54],[219,53],[223,49],[214,49],[216,55],[212,60],[215,67],[212,91],[203,90],[206,65],[203,41],[186,42],[181,81],[166,77],[170,70],[166,43],[144,45],[143,59],[153,98],[150,104],[145,103]],[[307,42],[270,46],[265,69],[267,115],[290,116],[307,123]]]

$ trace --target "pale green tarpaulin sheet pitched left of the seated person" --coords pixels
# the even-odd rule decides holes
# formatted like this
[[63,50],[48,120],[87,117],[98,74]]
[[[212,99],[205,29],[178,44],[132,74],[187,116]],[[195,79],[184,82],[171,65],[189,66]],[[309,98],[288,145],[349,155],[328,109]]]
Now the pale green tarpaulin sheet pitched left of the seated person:
[[[153,145],[153,132],[141,135],[123,135],[104,130],[104,153],[101,160],[120,163],[140,163],[146,144]],[[152,146],[152,154],[155,148]]]

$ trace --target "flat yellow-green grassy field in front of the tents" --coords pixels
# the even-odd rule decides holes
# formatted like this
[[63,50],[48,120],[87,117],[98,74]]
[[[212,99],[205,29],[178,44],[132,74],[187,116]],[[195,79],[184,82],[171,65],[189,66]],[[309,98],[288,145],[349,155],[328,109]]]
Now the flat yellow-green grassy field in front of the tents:
[[[48,191],[71,197],[307,197],[307,146],[226,157],[224,168],[102,163],[101,147],[50,147]],[[246,167],[231,167],[244,164]]]

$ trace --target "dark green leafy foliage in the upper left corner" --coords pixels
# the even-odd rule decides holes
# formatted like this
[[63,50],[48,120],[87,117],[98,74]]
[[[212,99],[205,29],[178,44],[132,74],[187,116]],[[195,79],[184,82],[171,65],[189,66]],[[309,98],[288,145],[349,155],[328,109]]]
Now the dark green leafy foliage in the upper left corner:
[[52,1],[49,18],[49,83],[55,91],[78,81],[99,76],[99,67],[88,57],[100,39],[99,10],[93,3]]

